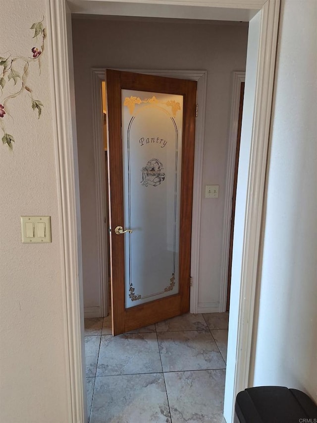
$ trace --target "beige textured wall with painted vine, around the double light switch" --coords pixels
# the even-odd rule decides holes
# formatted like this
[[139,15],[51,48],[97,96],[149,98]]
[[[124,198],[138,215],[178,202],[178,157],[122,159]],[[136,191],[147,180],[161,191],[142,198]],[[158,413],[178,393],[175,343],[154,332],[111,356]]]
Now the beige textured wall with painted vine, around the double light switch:
[[[0,56],[30,57],[34,22],[46,27],[40,0],[1,0]],[[67,356],[57,174],[54,154],[48,33],[46,50],[30,60],[27,85],[44,107],[40,119],[26,91],[6,103],[0,118],[15,143],[0,145],[0,422],[69,423]],[[12,67],[23,72],[21,61]],[[1,67],[1,69],[3,69]],[[7,82],[7,90],[21,85]],[[0,130],[0,137],[3,133]],[[21,215],[50,215],[52,243],[22,244]]]

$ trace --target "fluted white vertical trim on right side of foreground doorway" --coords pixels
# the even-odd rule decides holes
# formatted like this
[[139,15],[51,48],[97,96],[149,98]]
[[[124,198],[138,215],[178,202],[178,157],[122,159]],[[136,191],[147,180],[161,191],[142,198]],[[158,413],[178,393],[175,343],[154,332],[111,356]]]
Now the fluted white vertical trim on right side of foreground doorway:
[[[280,0],[267,0],[261,9],[256,92],[250,146],[244,238],[242,245],[233,398],[235,398],[238,392],[249,386],[254,306],[259,263],[265,171],[272,110],[279,10]],[[248,77],[248,75],[246,76]],[[234,416],[234,401],[231,405],[231,415]]]

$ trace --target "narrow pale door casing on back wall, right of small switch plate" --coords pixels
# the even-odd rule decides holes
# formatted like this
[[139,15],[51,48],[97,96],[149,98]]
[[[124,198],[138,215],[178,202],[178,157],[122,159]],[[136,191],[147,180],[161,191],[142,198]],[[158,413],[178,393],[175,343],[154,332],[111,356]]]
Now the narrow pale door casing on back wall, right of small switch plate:
[[227,291],[228,291],[228,266],[229,266],[229,247],[230,247],[230,229],[232,214],[232,195],[234,167],[237,150],[237,134],[239,121],[240,89],[241,82],[245,81],[246,72],[234,71],[232,75],[232,98],[229,127],[229,151],[226,171],[226,187],[224,199],[223,216],[223,241],[222,241],[222,276],[220,284],[220,312],[226,311]]

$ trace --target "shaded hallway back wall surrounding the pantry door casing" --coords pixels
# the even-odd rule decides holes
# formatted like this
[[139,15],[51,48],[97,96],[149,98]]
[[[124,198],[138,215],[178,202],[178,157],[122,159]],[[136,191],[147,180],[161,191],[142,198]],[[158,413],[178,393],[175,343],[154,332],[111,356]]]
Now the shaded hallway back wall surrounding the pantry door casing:
[[[245,23],[188,24],[73,19],[84,302],[99,305],[91,67],[208,70],[199,303],[219,306],[231,74],[244,70]],[[219,198],[205,199],[205,184]]]

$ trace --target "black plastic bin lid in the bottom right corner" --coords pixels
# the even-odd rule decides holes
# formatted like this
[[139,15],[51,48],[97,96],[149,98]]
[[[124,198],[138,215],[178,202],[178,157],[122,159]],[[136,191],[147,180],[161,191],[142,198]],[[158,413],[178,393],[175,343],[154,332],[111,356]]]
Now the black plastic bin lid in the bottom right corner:
[[247,388],[237,395],[234,423],[317,423],[317,406],[297,389]]

